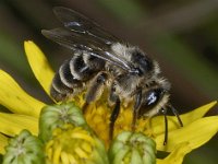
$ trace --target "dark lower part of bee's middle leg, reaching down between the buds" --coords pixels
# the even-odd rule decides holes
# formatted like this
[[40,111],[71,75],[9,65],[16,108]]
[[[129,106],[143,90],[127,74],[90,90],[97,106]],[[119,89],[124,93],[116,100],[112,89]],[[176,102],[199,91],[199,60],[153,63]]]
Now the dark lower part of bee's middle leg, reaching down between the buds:
[[112,140],[113,137],[113,128],[114,128],[114,122],[118,118],[118,115],[120,113],[120,98],[117,96],[117,101],[116,101],[116,105],[114,108],[112,110],[112,114],[110,116],[110,129],[109,129],[109,139]]

